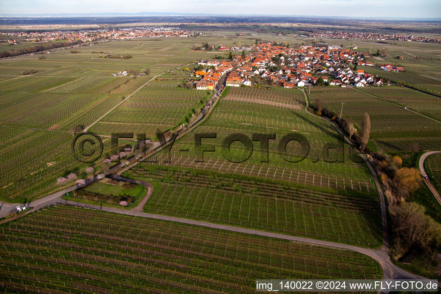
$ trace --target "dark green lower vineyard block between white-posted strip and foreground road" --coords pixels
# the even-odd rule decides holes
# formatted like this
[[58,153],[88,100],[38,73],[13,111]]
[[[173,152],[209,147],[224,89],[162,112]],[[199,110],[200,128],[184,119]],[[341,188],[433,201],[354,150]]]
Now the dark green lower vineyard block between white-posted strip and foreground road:
[[381,246],[379,202],[367,194],[170,164],[138,164],[123,175],[156,183],[145,212]]

